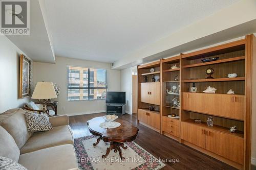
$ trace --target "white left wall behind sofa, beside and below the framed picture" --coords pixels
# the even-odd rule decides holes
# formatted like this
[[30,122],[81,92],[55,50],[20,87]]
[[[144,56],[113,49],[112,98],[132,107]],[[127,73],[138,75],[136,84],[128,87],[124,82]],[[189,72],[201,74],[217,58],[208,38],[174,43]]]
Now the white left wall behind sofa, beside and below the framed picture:
[[18,99],[20,54],[23,52],[16,45],[0,35],[0,113],[30,101],[30,98]]

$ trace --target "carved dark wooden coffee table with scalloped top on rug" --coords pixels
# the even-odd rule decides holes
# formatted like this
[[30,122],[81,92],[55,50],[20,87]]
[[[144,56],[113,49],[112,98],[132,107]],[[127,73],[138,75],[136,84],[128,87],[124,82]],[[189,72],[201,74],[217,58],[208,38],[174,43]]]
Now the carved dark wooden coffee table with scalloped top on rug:
[[100,139],[103,139],[104,142],[110,142],[110,147],[106,149],[106,154],[102,155],[102,158],[107,157],[110,151],[114,150],[114,152],[118,151],[120,158],[123,159],[121,148],[124,150],[127,149],[127,146],[124,147],[123,142],[135,140],[139,129],[130,122],[120,118],[117,118],[115,122],[119,122],[121,125],[113,129],[100,128],[99,125],[103,122],[105,122],[105,120],[102,117],[95,117],[87,121],[89,131],[93,135],[99,136],[97,142],[93,143],[93,146],[95,147]]

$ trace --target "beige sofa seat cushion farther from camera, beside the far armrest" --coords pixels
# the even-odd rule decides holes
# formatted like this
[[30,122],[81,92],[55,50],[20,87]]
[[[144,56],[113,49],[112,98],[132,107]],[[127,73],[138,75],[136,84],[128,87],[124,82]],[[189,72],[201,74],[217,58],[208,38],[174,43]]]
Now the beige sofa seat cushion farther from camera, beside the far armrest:
[[53,127],[51,131],[35,132],[20,150],[20,154],[62,144],[74,144],[72,131],[69,125]]

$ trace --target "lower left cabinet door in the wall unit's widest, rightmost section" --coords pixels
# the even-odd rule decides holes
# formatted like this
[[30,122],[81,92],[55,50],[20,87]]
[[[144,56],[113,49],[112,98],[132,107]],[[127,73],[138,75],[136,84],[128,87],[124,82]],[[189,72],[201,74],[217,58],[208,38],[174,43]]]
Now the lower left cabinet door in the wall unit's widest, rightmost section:
[[190,123],[181,123],[181,139],[205,149],[206,128]]

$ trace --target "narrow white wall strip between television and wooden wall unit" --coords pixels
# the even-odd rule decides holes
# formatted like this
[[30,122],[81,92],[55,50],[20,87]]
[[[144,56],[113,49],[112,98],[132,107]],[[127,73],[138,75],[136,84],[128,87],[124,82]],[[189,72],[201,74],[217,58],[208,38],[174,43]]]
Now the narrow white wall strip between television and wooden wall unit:
[[132,71],[130,68],[126,68],[121,70],[120,75],[120,85],[121,91],[125,91],[125,98],[126,98],[126,106],[125,106],[125,113],[132,114],[131,105],[131,86],[132,86]]

